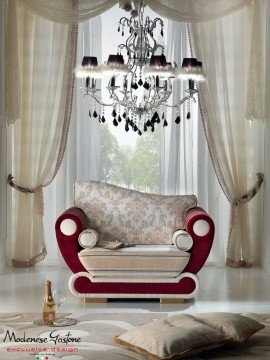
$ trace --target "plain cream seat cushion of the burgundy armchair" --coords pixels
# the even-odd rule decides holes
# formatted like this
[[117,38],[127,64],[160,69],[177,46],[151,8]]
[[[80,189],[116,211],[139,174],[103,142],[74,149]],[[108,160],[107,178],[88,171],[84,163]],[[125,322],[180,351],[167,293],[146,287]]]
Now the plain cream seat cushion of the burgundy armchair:
[[[177,279],[186,267],[190,254],[178,250],[174,245],[136,245],[118,250],[103,248],[83,249],[79,259],[85,269],[95,279],[135,278],[160,280]],[[159,274],[159,276],[158,276]],[[96,280],[97,281],[97,280]]]

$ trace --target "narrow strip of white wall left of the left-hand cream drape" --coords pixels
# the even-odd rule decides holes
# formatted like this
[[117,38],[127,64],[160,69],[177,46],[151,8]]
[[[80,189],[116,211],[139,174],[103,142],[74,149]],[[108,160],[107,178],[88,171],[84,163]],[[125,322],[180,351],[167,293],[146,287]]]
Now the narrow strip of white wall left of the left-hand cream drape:
[[0,3],[0,274],[6,267],[7,237],[7,128],[5,125],[5,1]]

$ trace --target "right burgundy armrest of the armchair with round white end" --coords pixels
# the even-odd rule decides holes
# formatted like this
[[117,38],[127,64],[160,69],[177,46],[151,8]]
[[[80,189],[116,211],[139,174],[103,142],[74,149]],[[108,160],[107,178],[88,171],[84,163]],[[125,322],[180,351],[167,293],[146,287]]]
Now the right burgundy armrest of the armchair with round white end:
[[206,262],[210,253],[215,225],[206,211],[200,207],[190,209],[186,213],[185,228],[193,239],[190,260],[183,271],[196,274]]

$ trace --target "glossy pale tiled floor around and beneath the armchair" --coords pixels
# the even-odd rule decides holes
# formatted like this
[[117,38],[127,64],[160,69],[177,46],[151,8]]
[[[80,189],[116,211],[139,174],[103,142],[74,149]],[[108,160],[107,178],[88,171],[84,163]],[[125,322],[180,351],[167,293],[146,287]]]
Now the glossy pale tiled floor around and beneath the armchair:
[[155,300],[114,300],[85,305],[70,294],[69,276],[69,270],[60,266],[7,269],[0,276],[0,312],[39,312],[47,279],[55,287],[66,289],[63,312],[270,312],[270,277],[261,269],[205,267],[199,274],[200,290],[196,299],[183,305],[160,305]]

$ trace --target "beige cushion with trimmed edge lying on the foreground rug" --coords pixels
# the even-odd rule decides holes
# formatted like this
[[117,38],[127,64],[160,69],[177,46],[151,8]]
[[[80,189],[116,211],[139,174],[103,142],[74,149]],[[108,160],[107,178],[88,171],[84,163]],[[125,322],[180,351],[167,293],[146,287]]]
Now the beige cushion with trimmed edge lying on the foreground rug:
[[238,314],[180,314],[139,326],[114,341],[152,360],[172,360],[242,342],[263,328]]

